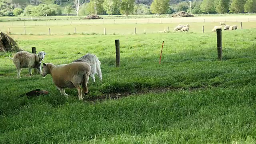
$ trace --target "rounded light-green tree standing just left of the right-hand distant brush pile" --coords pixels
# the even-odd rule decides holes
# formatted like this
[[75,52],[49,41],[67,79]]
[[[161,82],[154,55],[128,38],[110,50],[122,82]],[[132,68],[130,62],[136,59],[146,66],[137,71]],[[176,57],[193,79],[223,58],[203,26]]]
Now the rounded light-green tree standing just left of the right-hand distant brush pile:
[[169,8],[169,0],[154,0],[150,6],[150,10],[154,14],[164,14]]

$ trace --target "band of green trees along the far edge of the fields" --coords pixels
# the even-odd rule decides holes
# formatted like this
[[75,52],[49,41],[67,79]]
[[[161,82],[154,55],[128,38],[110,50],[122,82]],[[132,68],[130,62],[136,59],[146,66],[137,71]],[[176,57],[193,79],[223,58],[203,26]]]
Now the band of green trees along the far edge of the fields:
[[[15,0],[0,0],[0,16],[56,16],[63,13],[70,14],[75,10],[77,15],[113,15],[113,14],[173,14],[179,11],[191,12],[192,14],[224,14],[224,13],[256,13],[256,0],[194,0],[191,3],[182,1],[173,4],[170,0],[152,0],[150,5],[143,4],[150,2],[141,0],[70,0],[62,8],[65,0],[45,0],[38,2],[30,0],[29,5],[14,3]],[[16,0],[26,2],[28,0]],[[68,1],[68,0],[66,0]],[[47,4],[48,3],[48,4]],[[191,4],[191,8],[190,8]],[[96,8],[96,9],[95,9]]]

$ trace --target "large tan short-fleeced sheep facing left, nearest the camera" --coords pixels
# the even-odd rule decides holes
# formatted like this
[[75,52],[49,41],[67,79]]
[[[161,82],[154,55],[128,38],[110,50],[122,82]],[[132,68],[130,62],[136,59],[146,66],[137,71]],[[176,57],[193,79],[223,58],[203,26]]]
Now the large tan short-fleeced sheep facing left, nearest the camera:
[[[82,93],[83,95],[88,93],[87,83],[90,71],[91,66],[87,62],[71,62],[60,65],[43,63],[42,77],[50,74],[54,85],[58,87],[63,96],[68,96],[65,92],[66,88],[76,88],[79,100],[83,100]],[[82,85],[82,90],[80,85]]]

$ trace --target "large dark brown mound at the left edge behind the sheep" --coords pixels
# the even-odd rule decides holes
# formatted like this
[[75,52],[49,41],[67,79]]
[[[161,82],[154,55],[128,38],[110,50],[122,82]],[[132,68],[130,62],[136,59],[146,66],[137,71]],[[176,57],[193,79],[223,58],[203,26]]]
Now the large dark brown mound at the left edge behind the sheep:
[[18,44],[7,34],[0,32],[0,52],[20,52]]

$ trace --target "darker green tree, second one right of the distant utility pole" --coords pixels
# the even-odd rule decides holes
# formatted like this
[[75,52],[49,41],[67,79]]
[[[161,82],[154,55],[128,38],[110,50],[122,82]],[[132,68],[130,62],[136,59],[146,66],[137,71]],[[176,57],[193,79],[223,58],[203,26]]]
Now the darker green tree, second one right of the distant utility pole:
[[132,13],[134,10],[134,2],[135,0],[122,0],[120,4],[120,12],[121,14],[125,14],[128,16],[128,14]]

